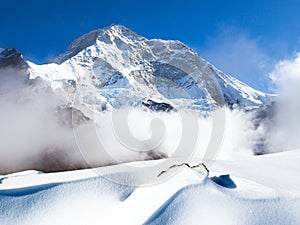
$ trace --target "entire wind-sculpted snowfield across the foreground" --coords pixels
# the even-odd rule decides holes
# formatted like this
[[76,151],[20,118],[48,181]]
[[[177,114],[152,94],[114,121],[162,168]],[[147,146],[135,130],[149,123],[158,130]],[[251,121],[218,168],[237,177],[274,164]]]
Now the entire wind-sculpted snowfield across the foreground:
[[183,166],[146,186],[124,183],[155,161],[2,176],[0,224],[299,224],[299,159],[298,150],[217,161],[209,176]]

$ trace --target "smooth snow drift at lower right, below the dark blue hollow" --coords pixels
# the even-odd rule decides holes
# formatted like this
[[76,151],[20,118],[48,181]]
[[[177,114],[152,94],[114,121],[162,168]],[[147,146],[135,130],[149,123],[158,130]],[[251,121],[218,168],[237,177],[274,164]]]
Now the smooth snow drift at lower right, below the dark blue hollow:
[[249,196],[240,195],[244,190],[226,189],[207,179],[203,184],[179,190],[146,224],[299,223],[299,198],[279,197],[270,188],[247,180],[236,180],[249,191]]

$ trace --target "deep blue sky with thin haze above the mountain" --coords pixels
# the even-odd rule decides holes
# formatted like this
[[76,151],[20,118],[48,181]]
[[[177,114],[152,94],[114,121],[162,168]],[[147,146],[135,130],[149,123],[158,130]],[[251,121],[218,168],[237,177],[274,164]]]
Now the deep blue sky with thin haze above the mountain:
[[177,39],[263,91],[279,60],[299,49],[297,0],[1,1],[0,47],[44,63],[93,29],[122,24],[147,38]]

